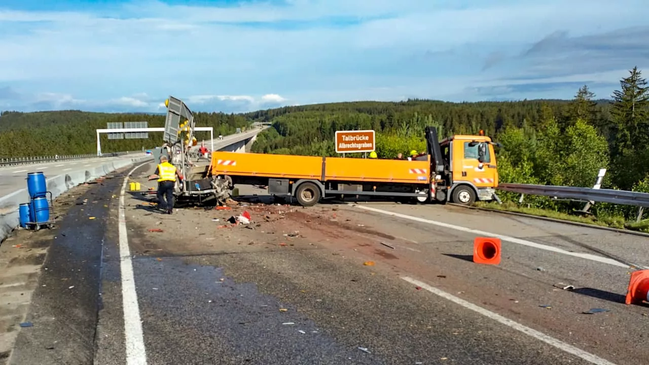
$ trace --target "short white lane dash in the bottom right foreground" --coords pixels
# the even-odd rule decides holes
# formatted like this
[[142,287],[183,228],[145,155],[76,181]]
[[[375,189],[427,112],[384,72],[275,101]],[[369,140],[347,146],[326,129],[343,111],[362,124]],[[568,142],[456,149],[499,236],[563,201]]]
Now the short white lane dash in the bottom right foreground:
[[471,309],[474,312],[478,312],[479,314],[482,314],[483,316],[487,318],[491,318],[492,320],[495,320],[499,323],[502,323],[508,327],[511,327],[517,331],[520,331],[524,334],[527,334],[528,336],[532,336],[533,338],[537,340],[541,340],[545,342],[546,344],[550,346],[554,346],[557,349],[561,349],[567,353],[570,353],[576,357],[579,357],[580,359],[586,360],[588,362],[591,362],[596,365],[615,365],[613,362],[609,362],[606,359],[602,359],[601,357],[598,357],[596,355],[593,355],[592,353],[583,351],[582,349],[578,349],[577,347],[571,346],[569,344],[566,344],[565,342],[561,340],[557,340],[556,338],[552,336],[548,336],[545,333],[536,331],[535,329],[531,329],[530,327],[527,327],[526,325],[522,325],[518,323],[517,321],[510,320],[509,318],[503,317],[500,314],[497,314],[495,312],[491,312],[491,310],[487,310],[482,307],[478,307],[477,305],[474,305],[471,302],[465,301],[464,299],[461,299],[459,297],[456,297],[450,293],[445,292],[444,290],[434,288],[433,286],[430,286],[426,283],[422,283],[421,281],[418,281],[417,279],[412,279],[411,277],[401,277],[401,279],[404,279],[405,281],[408,281],[408,283],[414,284],[419,286],[422,289],[428,290],[429,292],[443,297],[444,299],[448,299],[449,301],[452,301],[453,303],[456,303],[458,305],[461,305],[464,308]]

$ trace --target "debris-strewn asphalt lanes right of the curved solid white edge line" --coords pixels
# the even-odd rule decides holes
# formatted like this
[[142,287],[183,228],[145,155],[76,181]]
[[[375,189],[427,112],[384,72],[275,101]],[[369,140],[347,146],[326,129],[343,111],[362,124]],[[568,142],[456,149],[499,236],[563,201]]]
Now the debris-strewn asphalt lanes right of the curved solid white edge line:
[[[125,204],[149,364],[626,364],[649,356],[646,308],[620,303],[630,269],[607,257],[649,264],[646,251],[634,251],[643,237],[434,205],[164,216],[138,199]],[[221,227],[244,209],[252,229]],[[504,242],[499,266],[476,265],[471,229],[522,241]],[[608,312],[583,314],[591,308]],[[99,331],[119,338],[122,319],[104,319]],[[114,353],[112,341],[99,348]]]

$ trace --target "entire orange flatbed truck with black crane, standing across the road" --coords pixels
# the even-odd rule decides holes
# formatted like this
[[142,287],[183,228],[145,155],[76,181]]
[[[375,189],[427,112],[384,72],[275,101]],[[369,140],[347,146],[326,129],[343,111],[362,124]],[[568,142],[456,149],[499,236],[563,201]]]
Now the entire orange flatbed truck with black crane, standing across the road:
[[470,205],[498,199],[498,169],[491,138],[452,136],[441,142],[426,127],[426,155],[415,160],[312,157],[265,153],[212,153],[213,179],[268,186],[272,195],[295,196],[310,207],[340,195],[413,197]]

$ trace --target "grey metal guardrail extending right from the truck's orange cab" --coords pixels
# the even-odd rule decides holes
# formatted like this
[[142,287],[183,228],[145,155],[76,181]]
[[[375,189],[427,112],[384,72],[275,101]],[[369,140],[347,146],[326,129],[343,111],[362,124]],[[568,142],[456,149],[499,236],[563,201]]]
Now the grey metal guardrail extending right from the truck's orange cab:
[[618,205],[649,207],[649,194],[626,190],[580,188],[577,186],[553,186],[531,184],[498,184],[498,190],[526,195],[541,195],[557,199],[598,201]]

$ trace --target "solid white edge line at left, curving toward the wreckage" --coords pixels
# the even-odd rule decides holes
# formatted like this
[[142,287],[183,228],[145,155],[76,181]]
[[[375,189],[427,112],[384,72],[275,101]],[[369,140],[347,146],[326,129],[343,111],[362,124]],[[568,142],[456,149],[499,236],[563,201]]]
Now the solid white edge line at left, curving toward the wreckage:
[[146,365],[147,350],[144,347],[144,335],[140,320],[140,307],[138,306],[138,293],[135,288],[135,277],[133,274],[133,263],[130,257],[129,236],[126,230],[126,210],[124,208],[124,195],[129,176],[140,166],[130,170],[129,175],[124,178],[121,190],[119,191],[119,257],[122,284],[122,307],[124,310],[124,336],[126,341],[126,362],[127,365]]

